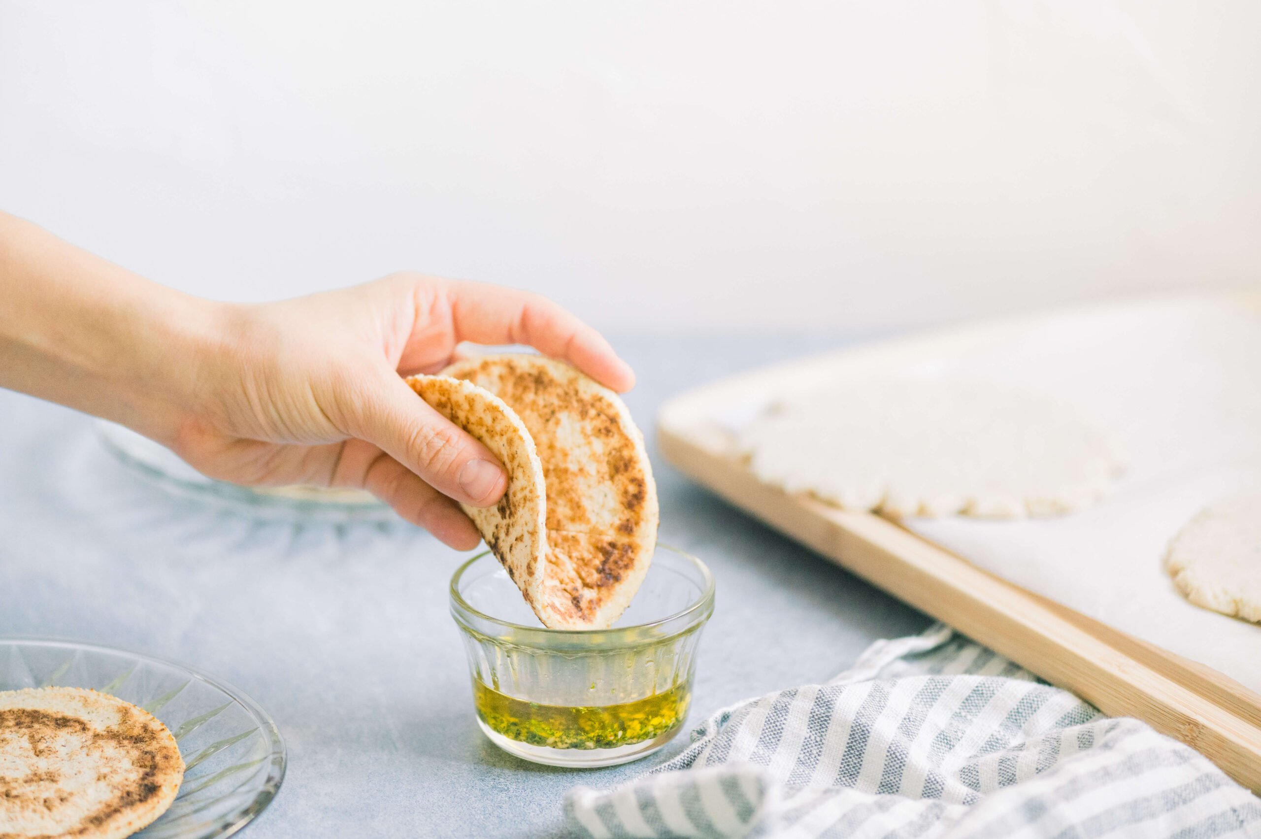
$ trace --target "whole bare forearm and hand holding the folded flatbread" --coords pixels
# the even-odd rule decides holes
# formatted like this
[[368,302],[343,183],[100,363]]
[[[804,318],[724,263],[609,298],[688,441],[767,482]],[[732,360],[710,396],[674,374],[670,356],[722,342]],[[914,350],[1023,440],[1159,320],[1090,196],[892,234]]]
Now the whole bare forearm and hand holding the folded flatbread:
[[0,387],[122,423],[214,478],[367,490],[472,549],[455,501],[489,506],[507,477],[400,377],[441,370],[462,341],[526,343],[614,390],[634,384],[599,333],[535,294],[396,274],[212,303],[0,213]]

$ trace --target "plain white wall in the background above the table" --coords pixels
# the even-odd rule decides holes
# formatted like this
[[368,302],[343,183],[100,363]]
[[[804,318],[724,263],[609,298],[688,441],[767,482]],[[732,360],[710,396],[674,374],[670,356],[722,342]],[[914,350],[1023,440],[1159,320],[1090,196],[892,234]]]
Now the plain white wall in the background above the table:
[[610,329],[1256,288],[1258,33],[1243,0],[0,0],[0,207],[208,295],[406,266]]

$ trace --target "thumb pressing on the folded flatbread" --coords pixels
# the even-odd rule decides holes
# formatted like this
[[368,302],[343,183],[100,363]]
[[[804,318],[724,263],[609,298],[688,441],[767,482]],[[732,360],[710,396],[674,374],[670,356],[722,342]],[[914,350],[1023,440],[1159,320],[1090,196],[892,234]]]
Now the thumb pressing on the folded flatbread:
[[489,507],[508,488],[508,476],[491,450],[430,408],[393,371],[381,376],[356,414],[356,437],[455,501]]

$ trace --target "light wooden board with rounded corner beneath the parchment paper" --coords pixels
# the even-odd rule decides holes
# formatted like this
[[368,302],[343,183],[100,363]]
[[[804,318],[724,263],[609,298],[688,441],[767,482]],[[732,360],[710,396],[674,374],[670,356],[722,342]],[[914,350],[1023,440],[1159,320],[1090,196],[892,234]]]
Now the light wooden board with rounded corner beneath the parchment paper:
[[[1256,299],[1241,303],[1251,307]],[[762,483],[735,454],[731,431],[714,419],[749,394],[786,390],[846,370],[892,371],[926,357],[994,346],[1040,320],[841,349],[705,385],[661,409],[658,442],[670,463],[741,510],[1103,713],[1137,717],[1180,739],[1261,794],[1261,695],[1013,585],[893,521]]]

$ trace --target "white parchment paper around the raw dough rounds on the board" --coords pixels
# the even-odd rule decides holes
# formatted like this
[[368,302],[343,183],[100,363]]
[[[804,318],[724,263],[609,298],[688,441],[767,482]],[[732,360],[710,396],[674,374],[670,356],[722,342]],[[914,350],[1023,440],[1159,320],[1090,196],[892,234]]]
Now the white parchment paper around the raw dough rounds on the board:
[[1001,346],[904,371],[1072,400],[1129,452],[1115,493],[1072,515],[904,524],[1004,579],[1261,691],[1261,626],[1193,606],[1163,565],[1170,537],[1204,505],[1261,483],[1261,317],[1206,298],[1112,307],[1052,317]]

